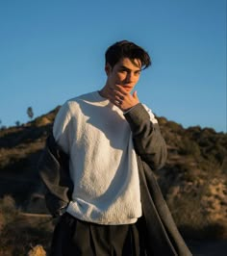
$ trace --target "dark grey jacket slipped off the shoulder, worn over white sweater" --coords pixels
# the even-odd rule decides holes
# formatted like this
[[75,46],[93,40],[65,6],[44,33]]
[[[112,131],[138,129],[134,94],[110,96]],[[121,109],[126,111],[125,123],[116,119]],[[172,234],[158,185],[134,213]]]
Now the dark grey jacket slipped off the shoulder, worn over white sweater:
[[[140,197],[145,221],[148,255],[189,256],[189,248],[171,217],[152,169],[164,166],[166,145],[159,125],[141,104],[125,114],[138,156]],[[46,187],[47,208],[53,216],[70,201],[72,182],[68,173],[67,156],[50,136],[39,161],[39,173]]]

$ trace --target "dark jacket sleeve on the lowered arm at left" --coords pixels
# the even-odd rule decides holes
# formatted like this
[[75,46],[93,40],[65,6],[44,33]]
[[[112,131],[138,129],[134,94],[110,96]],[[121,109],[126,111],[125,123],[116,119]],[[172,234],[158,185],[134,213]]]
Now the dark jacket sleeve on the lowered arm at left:
[[46,207],[53,217],[58,217],[70,200],[73,185],[69,176],[68,156],[53,135],[46,140],[38,162],[38,172],[45,187]]

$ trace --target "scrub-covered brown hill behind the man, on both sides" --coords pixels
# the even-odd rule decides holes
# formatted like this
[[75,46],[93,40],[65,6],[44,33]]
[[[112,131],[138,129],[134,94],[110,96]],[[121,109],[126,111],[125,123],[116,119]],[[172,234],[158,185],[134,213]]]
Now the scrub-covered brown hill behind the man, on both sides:
[[[37,164],[58,110],[0,130],[0,197],[11,194],[24,211],[46,212]],[[227,134],[158,119],[168,159],[155,174],[179,228],[227,238]]]

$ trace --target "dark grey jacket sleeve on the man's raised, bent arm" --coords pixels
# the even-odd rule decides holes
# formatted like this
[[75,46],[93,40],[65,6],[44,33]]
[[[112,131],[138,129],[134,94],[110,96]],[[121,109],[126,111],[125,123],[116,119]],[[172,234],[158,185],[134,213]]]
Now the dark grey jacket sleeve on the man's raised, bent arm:
[[167,150],[157,119],[139,103],[125,114],[137,154],[153,170],[164,166]]

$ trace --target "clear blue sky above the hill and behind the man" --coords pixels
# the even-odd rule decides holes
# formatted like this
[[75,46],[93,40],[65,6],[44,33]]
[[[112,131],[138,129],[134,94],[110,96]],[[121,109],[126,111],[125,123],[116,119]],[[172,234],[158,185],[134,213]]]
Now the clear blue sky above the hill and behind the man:
[[13,126],[105,83],[120,39],[151,55],[139,99],[185,128],[226,131],[226,0],[0,1],[0,119]]

